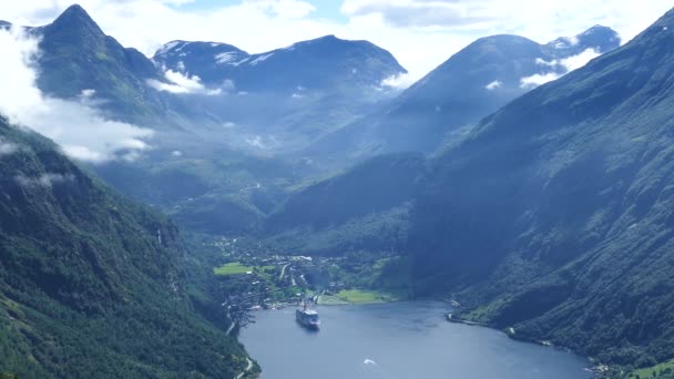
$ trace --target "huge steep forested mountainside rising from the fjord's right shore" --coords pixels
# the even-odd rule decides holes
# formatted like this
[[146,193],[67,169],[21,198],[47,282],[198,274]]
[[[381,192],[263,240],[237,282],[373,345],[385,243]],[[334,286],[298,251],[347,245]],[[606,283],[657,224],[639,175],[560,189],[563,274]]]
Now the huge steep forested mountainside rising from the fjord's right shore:
[[441,154],[415,211],[416,291],[601,361],[672,358],[673,59],[674,10]]

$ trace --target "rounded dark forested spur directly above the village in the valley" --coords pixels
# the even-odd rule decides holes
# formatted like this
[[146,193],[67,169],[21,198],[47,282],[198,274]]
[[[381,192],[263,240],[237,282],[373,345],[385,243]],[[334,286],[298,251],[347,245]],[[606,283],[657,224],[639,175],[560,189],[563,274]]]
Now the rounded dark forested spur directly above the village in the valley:
[[390,252],[407,238],[426,168],[418,153],[368,160],[292,193],[266,219],[266,234],[294,253]]

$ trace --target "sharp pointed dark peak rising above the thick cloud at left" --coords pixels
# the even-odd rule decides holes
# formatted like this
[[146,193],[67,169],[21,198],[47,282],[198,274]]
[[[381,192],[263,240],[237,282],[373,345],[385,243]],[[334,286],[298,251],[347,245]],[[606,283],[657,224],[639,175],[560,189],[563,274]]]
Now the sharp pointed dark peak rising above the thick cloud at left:
[[159,70],[135,49],[125,49],[80,6],[71,6],[51,24],[30,28],[41,39],[38,86],[61,99],[78,99],[93,90],[110,116],[149,126],[161,126],[168,111],[146,80]]

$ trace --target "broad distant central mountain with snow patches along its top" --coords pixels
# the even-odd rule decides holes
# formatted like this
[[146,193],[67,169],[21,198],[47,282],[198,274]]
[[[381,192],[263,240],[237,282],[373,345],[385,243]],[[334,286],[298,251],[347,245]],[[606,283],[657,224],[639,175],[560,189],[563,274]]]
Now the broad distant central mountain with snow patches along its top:
[[261,54],[173,41],[153,60],[222,91],[198,102],[221,123],[236,125],[226,130],[231,145],[273,154],[300,151],[390,101],[398,91],[382,82],[407,72],[370,42],[334,35]]

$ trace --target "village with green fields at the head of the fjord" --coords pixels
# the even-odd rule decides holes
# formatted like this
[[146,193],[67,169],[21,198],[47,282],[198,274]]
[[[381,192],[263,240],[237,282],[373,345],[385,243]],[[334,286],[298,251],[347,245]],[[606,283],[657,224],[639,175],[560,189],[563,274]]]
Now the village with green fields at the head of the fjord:
[[[222,307],[239,327],[254,320],[254,311],[275,310],[303,303],[347,305],[381,303],[386,297],[362,295],[344,273],[345,257],[279,255],[261,243],[237,237],[213,237],[203,242],[219,252],[222,265],[214,267],[222,293]],[[374,294],[374,293],[372,293]]]

